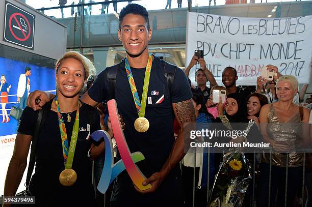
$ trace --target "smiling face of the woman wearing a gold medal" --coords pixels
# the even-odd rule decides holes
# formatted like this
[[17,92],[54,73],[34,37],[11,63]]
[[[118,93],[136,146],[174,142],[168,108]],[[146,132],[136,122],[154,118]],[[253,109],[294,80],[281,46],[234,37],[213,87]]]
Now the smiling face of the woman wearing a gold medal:
[[84,71],[84,66],[79,61],[73,58],[63,60],[56,74],[60,94],[67,98],[78,95],[84,85]]

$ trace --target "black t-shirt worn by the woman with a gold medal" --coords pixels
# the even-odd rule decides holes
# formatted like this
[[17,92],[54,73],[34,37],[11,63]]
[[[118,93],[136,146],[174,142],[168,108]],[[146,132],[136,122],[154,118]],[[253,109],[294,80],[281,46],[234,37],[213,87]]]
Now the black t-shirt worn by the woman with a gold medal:
[[[88,110],[87,110],[88,107]],[[94,111],[92,111],[94,110]],[[95,115],[88,115],[95,113]],[[67,122],[67,114],[62,113],[65,121],[68,145],[74,125],[76,111],[73,111],[71,122]],[[90,124],[90,119],[93,119]],[[18,132],[33,135],[36,121],[36,112],[26,107],[21,116]],[[91,130],[88,131],[88,125]],[[72,169],[77,173],[74,185],[64,187],[59,182],[59,175],[64,170],[61,134],[58,122],[58,113],[49,110],[46,120],[42,125],[36,146],[36,171],[32,176],[30,191],[36,196],[38,205],[72,206],[73,203],[92,203],[94,201],[94,188],[92,186],[92,165],[87,156],[91,142],[86,140],[89,133],[100,130],[99,115],[95,108],[83,104],[80,108],[79,133],[73,158]]]

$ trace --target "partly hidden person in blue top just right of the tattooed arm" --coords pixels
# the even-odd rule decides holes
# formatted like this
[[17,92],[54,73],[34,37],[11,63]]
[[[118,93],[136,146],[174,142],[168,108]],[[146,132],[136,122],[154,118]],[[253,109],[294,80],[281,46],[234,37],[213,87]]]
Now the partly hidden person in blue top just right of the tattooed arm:
[[[196,130],[209,128],[212,123],[211,117],[205,107],[204,97],[200,94],[193,93],[192,102],[196,116]],[[207,170],[208,170],[208,155],[204,152],[206,149],[196,148],[196,163],[194,163],[195,149],[190,151],[183,158],[182,180],[185,198],[185,206],[193,204],[193,187],[195,187],[195,206],[206,206],[207,200]],[[195,186],[193,186],[193,172],[195,167]],[[214,154],[210,154],[210,184],[214,178]]]

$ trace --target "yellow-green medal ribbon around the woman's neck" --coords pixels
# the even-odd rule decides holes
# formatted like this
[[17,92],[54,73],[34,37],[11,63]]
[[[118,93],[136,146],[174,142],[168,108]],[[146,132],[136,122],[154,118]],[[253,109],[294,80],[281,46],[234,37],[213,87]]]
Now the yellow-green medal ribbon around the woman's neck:
[[63,157],[64,157],[64,165],[65,169],[71,169],[73,157],[75,154],[76,149],[76,143],[78,138],[78,129],[79,129],[79,102],[78,102],[78,108],[76,112],[76,119],[75,123],[72,129],[71,139],[70,139],[70,145],[68,148],[68,140],[67,140],[67,134],[66,134],[66,128],[63,120],[63,116],[60,110],[59,102],[57,100],[57,97],[55,97],[55,103],[58,108],[58,119],[59,119],[59,126],[60,126],[60,132],[61,132],[61,138],[62,138],[62,146],[63,146]]

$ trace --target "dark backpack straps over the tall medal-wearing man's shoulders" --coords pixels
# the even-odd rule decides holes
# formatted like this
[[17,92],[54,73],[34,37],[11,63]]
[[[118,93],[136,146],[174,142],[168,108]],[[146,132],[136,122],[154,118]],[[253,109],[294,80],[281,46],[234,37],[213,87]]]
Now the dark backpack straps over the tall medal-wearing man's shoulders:
[[[154,58],[159,58],[159,57],[154,56]],[[174,75],[175,75],[175,71],[177,67],[161,59],[160,61],[162,65],[164,66],[164,76],[167,79],[167,85],[168,85],[169,94],[171,98],[172,97],[172,84],[173,84]],[[106,82],[107,83],[106,94],[108,95],[107,101],[115,98],[115,85],[116,85],[116,79],[117,79],[117,71],[118,71],[118,68],[120,67],[120,64],[122,63],[123,61],[113,67],[106,68],[107,78],[105,81],[107,81]]]

